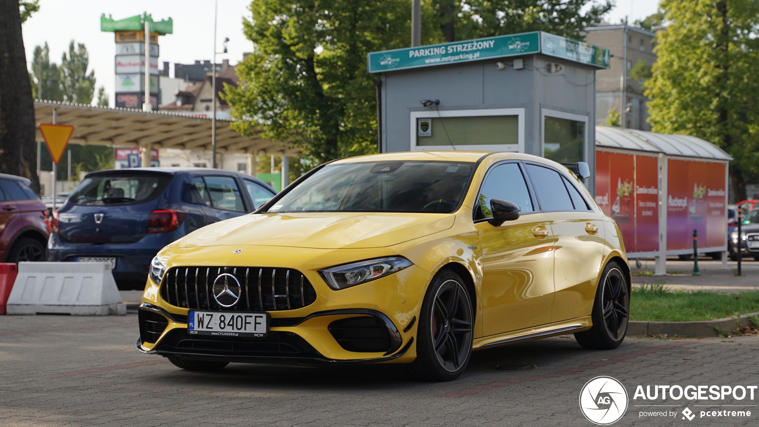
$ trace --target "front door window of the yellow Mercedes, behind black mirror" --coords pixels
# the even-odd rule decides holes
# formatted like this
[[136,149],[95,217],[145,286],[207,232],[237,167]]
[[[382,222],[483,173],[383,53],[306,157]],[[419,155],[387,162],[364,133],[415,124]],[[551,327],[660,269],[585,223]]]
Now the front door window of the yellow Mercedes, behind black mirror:
[[532,200],[527,184],[517,163],[505,163],[497,165],[487,174],[485,182],[480,188],[480,196],[477,197],[477,210],[474,219],[492,218],[490,200],[502,199],[516,203],[521,212],[532,212]]

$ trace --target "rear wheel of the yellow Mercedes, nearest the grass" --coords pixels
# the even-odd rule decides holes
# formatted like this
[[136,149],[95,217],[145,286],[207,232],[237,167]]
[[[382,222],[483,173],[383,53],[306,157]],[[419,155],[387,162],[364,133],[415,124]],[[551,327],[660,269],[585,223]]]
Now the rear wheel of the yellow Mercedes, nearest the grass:
[[630,288],[619,262],[606,264],[593,304],[593,327],[575,334],[587,349],[612,350],[625,341],[630,317]]

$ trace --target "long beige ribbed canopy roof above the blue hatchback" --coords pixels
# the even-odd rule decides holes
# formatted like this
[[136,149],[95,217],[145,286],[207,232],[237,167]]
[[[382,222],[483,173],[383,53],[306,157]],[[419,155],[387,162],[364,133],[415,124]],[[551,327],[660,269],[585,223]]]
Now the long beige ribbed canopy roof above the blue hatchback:
[[[34,119],[52,123],[52,111],[58,110],[58,124],[71,124],[70,143],[98,146],[143,146],[146,148],[194,149],[210,151],[211,119],[198,115],[181,115],[168,111],[140,111],[132,108],[93,107],[70,102],[34,100]],[[229,128],[230,119],[216,119],[216,146],[219,152],[295,155],[296,149],[256,137],[245,137]]]

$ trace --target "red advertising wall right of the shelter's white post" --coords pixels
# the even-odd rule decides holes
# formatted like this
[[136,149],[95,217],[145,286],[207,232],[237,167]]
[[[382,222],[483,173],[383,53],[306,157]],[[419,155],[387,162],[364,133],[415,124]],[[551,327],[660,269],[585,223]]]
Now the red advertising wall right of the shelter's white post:
[[724,163],[669,159],[667,164],[667,250],[725,246]]

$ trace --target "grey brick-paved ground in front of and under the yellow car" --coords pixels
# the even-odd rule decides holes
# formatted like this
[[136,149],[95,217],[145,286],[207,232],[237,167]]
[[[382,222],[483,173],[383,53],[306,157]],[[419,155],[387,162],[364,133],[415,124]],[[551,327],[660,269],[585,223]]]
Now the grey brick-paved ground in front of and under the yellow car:
[[[757,385],[759,337],[630,339],[588,351],[569,337],[474,353],[448,383],[411,381],[398,366],[232,364],[185,372],[134,349],[137,316],[0,316],[0,425],[580,425],[584,383],[618,378],[630,407],[615,425],[759,425],[751,418],[640,417],[636,385]],[[531,365],[510,371],[496,366]],[[657,401],[685,405],[754,401]],[[716,408],[715,408],[716,409]],[[732,409],[732,408],[731,408]]]

